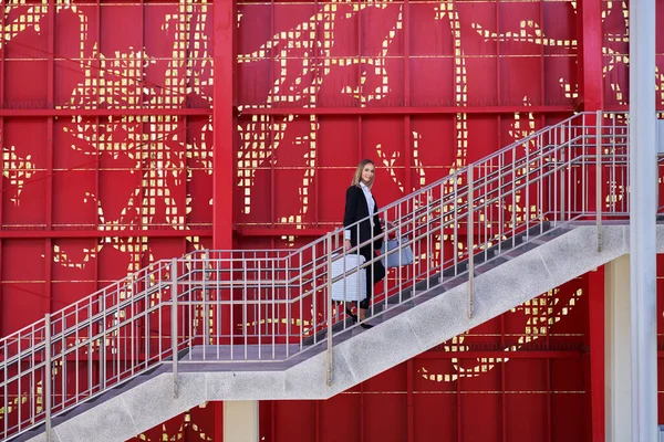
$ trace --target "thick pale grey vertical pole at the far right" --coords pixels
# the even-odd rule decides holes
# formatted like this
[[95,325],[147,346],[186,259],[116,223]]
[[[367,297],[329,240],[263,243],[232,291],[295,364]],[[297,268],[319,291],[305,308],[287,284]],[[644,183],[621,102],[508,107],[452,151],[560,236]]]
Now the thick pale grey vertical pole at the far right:
[[655,0],[630,2],[632,442],[657,441]]

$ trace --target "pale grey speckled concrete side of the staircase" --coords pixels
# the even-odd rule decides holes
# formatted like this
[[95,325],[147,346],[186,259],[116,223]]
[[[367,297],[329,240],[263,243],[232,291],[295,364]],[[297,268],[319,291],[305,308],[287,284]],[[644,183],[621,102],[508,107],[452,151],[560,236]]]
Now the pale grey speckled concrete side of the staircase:
[[[604,225],[602,238],[598,252],[596,228],[579,225],[476,276],[473,318],[467,315],[468,284],[464,283],[372,329],[357,330],[334,346],[330,387],[325,352],[280,371],[242,371],[240,364],[235,370],[210,362],[187,366],[187,372],[178,375],[177,398],[173,375],[160,370],[54,427],[54,441],[122,442],[210,400],[331,398],[629,252],[627,225]],[[657,253],[662,252],[664,227],[658,225]],[[42,433],[31,440],[45,438]]]

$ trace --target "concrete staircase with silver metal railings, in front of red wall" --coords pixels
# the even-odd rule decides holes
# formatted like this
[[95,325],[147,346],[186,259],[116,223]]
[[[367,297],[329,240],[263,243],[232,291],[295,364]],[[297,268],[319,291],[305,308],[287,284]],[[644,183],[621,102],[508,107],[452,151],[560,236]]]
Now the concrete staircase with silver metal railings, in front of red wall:
[[372,329],[329,298],[359,271],[330,277],[357,253],[341,229],[155,262],[0,340],[0,440],[124,441],[208,400],[344,391],[627,253],[627,145],[625,114],[578,114],[382,209],[415,260]]

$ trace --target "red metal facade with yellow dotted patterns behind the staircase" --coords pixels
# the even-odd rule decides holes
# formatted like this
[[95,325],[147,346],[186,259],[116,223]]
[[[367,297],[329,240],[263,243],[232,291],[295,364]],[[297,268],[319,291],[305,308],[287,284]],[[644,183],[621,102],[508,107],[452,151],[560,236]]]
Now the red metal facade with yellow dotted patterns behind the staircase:
[[[305,243],[340,224],[361,158],[385,204],[574,110],[626,108],[626,8],[4,1],[0,334],[158,259]],[[261,436],[603,440],[602,299],[600,270],[329,401],[262,402]],[[218,417],[137,440],[219,440]]]

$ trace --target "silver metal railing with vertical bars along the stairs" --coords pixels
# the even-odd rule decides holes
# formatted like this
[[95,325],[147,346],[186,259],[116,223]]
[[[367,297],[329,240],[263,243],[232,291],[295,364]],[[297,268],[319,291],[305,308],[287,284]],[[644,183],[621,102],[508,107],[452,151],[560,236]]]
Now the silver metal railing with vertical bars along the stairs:
[[[387,229],[372,241],[403,236],[391,253],[409,246],[415,260],[388,272],[370,317],[398,308],[416,286],[455,278],[470,283],[473,315],[476,260],[570,221],[626,219],[627,144],[626,115],[579,114],[383,208]],[[53,417],[164,362],[177,393],[178,364],[284,362],[325,349],[331,380],[333,338],[353,327],[330,301],[343,280],[329,277],[333,262],[359,253],[343,250],[342,235],[297,251],[159,261],[3,338],[0,439],[44,423],[50,431]]]

